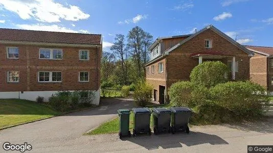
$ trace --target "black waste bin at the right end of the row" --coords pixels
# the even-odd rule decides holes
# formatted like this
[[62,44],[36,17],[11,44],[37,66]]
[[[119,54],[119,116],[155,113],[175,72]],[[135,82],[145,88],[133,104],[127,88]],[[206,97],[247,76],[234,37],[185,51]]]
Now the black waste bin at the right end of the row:
[[188,126],[192,110],[186,107],[171,107],[171,131],[174,134],[178,130],[190,133]]

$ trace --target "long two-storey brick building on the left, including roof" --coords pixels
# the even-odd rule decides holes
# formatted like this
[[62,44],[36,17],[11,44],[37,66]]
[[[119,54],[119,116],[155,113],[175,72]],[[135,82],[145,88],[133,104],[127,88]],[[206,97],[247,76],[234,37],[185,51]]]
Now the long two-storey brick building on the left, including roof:
[[101,35],[0,29],[0,98],[94,90],[99,104],[101,55]]

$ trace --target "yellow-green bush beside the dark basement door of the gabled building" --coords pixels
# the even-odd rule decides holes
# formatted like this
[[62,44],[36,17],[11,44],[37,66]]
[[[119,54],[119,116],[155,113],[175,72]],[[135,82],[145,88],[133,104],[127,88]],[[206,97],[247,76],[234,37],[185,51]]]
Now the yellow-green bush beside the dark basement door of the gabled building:
[[138,106],[145,107],[152,101],[153,87],[145,81],[140,81],[136,86],[133,94],[135,103]]

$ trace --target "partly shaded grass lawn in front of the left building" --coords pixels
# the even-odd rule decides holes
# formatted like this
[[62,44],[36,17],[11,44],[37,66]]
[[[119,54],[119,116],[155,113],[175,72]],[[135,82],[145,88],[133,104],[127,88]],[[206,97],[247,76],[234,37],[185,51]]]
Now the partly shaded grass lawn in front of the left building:
[[59,112],[34,101],[23,99],[0,99],[0,129],[3,127],[52,117]]

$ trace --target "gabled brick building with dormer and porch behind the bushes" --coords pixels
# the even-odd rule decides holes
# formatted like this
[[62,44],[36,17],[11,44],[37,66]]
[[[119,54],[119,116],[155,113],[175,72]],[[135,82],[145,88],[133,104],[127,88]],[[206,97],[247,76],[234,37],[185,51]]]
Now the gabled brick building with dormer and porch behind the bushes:
[[233,80],[249,79],[249,58],[254,53],[213,25],[190,35],[162,37],[149,48],[146,81],[153,85],[153,98],[165,103],[168,88],[187,81],[191,70],[202,61],[221,61],[232,70]]

